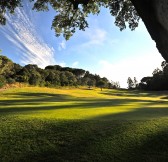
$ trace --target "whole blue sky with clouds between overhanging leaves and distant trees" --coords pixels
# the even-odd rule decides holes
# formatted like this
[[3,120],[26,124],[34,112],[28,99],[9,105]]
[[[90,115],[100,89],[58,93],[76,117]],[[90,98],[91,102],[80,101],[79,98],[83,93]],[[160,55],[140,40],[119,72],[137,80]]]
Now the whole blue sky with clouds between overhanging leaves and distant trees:
[[77,31],[65,41],[51,30],[55,11],[36,12],[30,8],[25,3],[24,8],[7,16],[6,26],[0,26],[2,54],[21,65],[83,68],[127,87],[128,77],[140,80],[150,76],[163,61],[142,22],[135,31],[120,32],[109,11],[102,9],[98,16],[88,17],[85,32]]

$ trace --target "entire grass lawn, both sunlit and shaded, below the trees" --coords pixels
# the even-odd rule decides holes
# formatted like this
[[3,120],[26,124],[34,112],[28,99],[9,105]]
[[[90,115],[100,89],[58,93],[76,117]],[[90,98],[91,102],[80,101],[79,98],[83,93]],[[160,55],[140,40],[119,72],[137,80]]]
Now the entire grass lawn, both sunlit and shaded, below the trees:
[[0,94],[0,162],[166,162],[168,92],[15,88]]

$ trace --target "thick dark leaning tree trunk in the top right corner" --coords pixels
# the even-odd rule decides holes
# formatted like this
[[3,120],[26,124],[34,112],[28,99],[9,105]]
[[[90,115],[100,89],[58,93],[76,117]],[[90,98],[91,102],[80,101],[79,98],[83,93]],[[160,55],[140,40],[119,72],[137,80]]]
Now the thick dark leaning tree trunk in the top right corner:
[[[131,0],[156,47],[168,61],[168,1]],[[143,47],[142,47],[143,48]],[[152,59],[152,58],[151,58]]]

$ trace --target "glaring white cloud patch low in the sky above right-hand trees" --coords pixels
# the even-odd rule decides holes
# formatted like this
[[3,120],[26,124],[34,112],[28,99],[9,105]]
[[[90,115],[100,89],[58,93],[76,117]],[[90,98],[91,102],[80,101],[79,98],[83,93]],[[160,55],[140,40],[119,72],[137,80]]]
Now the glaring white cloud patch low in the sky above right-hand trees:
[[157,51],[153,51],[152,54],[147,53],[143,57],[139,55],[139,57],[127,58],[115,64],[101,60],[99,74],[112,81],[119,81],[121,87],[126,88],[128,77],[136,77],[140,81],[145,76],[151,76],[153,70],[160,67],[162,61],[163,58]]

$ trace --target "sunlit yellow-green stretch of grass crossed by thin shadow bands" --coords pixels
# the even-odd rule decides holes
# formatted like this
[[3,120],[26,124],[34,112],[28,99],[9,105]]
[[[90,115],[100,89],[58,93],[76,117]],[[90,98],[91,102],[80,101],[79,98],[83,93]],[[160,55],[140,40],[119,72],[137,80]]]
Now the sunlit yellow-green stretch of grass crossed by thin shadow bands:
[[[162,97],[163,98],[163,97]],[[50,89],[21,88],[4,91],[0,96],[0,111],[7,115],[18,115],[21,118],[48,119],[98,119],[99,116],[111,115],[108,120],[135,118],[133,115],[120,113],[139,112],[136,119],[146,117],[149,108],[166,108],[167,101],[161,96],[150,96],[117,90],[83,90],[83,89]],[[163,102],[162,104],[160,104]],[[151,112],[152,113],[152,112]],[[114,116],[112,116],[114,115]],[[158,117],[163,114],[157,114]],[[150,115],[152,117],[152,115]],[[156,117],[154,115],[154,117]],[[147,116],[148,118],[148,116]],[[105,119],[105,118],[104,118]]]

